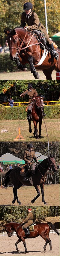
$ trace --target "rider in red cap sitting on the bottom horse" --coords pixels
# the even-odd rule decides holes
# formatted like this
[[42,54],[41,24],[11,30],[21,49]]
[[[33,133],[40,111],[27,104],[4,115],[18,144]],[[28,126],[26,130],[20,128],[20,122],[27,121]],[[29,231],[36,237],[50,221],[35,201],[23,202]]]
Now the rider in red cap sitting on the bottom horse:
[[[32,209],[28,208],[28,216],[27,218],[24,220],[23,224],[23,230],[25,231],[25,234],[30,234],[28,227],[33,224],[33,213],[32,213]],[[26,224],[25,224],[26,223]]]

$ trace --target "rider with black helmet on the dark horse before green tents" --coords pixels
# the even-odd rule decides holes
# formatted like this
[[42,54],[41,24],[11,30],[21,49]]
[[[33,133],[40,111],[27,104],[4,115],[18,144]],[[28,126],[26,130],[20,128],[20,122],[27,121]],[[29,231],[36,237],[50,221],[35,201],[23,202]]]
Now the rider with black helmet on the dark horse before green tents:
[[[27,144],[27,148],[28,149],[25,150],[24,156],[23,156],[23,160],[25,161],[25,164],[27,164],[26,168],[28,169],[28,171],[26,172],[24,181],[28,181],[27,176],[29,176],[30,172],[35,169],[35,162],[38,164],[38,160],[36,158],[35,151],[33,151],[33,149],[32,149],[33,148],[32,143]],[[34,162],[34,160],[35,160],[35,162]]]

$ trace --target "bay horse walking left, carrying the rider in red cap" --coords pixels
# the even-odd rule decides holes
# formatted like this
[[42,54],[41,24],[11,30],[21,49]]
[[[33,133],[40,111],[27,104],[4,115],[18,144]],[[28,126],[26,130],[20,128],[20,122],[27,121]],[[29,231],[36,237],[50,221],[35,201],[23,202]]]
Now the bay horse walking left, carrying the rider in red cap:
[[44,252],[46,251],[46,245],[49,243],[50,251],[52,250],[52,244],[51,240],[49,238],[49,231],[50,228],[52,228],[59,236],[59,232],[55,229],[55,226],[51,223],[39,223],[34,225],[34,231],[30,231],[29,235],[25,234],[25,231],[22,229],[23,224],[18,223],[18,222],[9,222],[6,225],[3,225],[5,227],[5,230],[7,232],[8,237],[11,237],[13,234],[13,230],[16,232],[17,237],[19,238],[16,243],[16,251],[20,253],[18,250],[17,244],[20,243],[21,241],[23,242],[23,245],[25,247],[25,253],[27,252],[26,248],[26,238],[36,238],[39,235],[45,240],[45,245],[44,245]]

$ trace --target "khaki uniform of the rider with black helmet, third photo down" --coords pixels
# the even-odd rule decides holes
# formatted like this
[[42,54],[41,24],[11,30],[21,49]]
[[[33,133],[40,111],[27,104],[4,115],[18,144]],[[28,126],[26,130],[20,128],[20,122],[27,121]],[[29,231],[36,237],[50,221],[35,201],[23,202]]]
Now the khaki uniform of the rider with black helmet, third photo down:
[[[30,164],[28,164],[28,162],[30,161],[32,161],[32,163],[31,163],[31,166],[30,166],[30,170],[29,171],[32,171],[32,164],[34,163],[34,159],[36,158],[36,155],[35,155],[35,151],[29,151],[29,150],[25,150],[25,152],[24,152],[24,156],[23,156],[23,160],[25,161],[25,164],[27,164],[26,165],[26,168],[29,170],[29,165]],[[37,159],[35,160],[35,162],[37,162]]]

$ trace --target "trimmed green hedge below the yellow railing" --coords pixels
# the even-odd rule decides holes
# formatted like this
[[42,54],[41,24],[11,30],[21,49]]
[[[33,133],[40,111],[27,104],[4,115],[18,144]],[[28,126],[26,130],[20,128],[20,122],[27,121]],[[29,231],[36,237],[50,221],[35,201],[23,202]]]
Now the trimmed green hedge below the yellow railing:
[[[18,113],[19,108],[19,113]],[[13,107],[13,108],[0,108],[0,120],[16,120],[26,119],[26,107]],[[59,106],[49,106],[44,107],[45,118],[60,118],[60,107]]]

